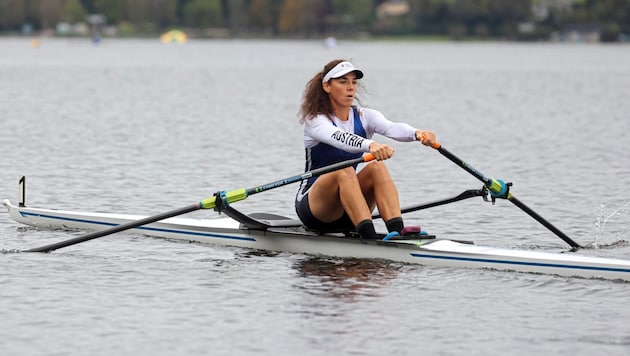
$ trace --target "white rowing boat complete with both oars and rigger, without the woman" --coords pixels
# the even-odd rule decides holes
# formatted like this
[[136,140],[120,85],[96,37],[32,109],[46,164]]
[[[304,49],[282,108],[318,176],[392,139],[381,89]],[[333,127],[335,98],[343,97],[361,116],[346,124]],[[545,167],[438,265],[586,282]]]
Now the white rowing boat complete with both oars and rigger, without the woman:
[[[13,220],[26,225],[47,229],[90,229],[83,236],[24,252],[50,252],[59,248],[82,243],[113,233],[135,230],[139,233],[197,241],[226,246],[236,246],[268,251],[284,251],[334,257],[386,259],[427,266],[487,268],[516,272],[554,274],[567,277],[602,278],[630,281],[630,261],[579,255],[580,246],[533,209],[510,192],[511,183],[486,177],[480,171],[455,156],[440,144],[433,146],[446,158],[482,181],[481,190],[469,190],[442,201],[401,209],[402,213],[448,204],[471,197],[486,199],[490,193],[492,202],[506,199],[556,234],[572,249],[572,253],[550,253],[530,250],[501,249],[477,246],[470,241],[438,239],[431,235],[399,236],[393,239],[362,240],[356,232],[322,232],[305,229],[299,220],[273,214],[247,215],[230,204],[253,194],[326,174],[338,169],[374,160],[363,157],[338,162],[302,174],[280,179],[268,184],[232,191],[220,191],[198,203],[153,216],[111,214],[53,209],[27,208],[25,204],[25,178],[20,179],[20,201],[16,206],[5,199],[2,203]],[[227,217],[216,219],[181,218],[180,215],[199,209],[214,209]],[[378,215],[374,215],[378,218]],[[384,234],[381,234],[383,236]]]

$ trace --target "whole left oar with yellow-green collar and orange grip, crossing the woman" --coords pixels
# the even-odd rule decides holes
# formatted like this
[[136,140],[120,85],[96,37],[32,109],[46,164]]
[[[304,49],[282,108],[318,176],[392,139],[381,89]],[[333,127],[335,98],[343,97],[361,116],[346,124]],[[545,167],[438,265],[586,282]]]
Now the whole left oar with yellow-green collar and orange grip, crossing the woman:
[[[318,169],[314,169],[308,172],[304,172],[302,174],[299,175],[295,175],[292,177],[288,177],[288,178],[284,178],[272,183],[268,183],[268,184],[263,184],[263,185],[259,185],[253,188],[241,188],[241,189],[236,189],[236,190],[232,190],[229,192],[221,192],[217,195],[213,195],[212,197],[203,199],[201,202],[199,203],[195,203],[193,205],[189,205],[183,208],[179,208],[179,209],[175,209],[175,210],[171,210],[171,211],[167,211],[165,213],[161,213],[158,215],[153,215],[153,216],[149,216],[140,220],[136,220],[136,221],[130,221],[128,223],[125,224],[121,224],[121,225],[117,225],[114,226],[112,228],[109,229],[105,229],[105,230],[100,230],[100,231],[95,231],[93,233],[84,235],[84,236],[79,236],[79,237],[75,237],[73,239],[69,239],[66,241],[60,241],[57,243],[53,243],[50,245],[46,245],[46,246],[42,246],[42,247],[36,247],[36,248],[32,248],[30,250],[25,250],[24,252],[50,252],[50,251],[54,251],[63,247],[67,247],[70,245],[74,245],[74,244],[78,244],[81,242],[85,242],[85,241],[89,241],[98,237],[103,237],[106,235],[111,235],[113,233],[116,232],[120,232],[120,231],[125,231],[125,230],[129,230],[129,229],[133,229],[142,225],[147,225],[150,223],[154,223],[156,221],[160,221],[160,220],[164,220],[167,218],[171,218],[177,215],[182,215],[182,214],[186,214],[186,213],[190,213],[192,211],[195,210],[199,210],[199,209],[213,209],[215,207],[217,207],[217,205],[227,205],[229,203],[234,203],[240,200],[244,200],[245,198],[247,198],[250,195],[254,195],[254,194],[258,194],[258,193],[262,193],[265,192],[267,190],[271,190],[271,189],[275,189],[275,188],[279,188],[291,183],[295,183],[295,182],[300,182],[302,180],[305,179],[309,179],[311,177],[315,177],[315,176],[319,176],[322,174],[326,174],[326,173],[330,173],[339,169],[343,169],[346,167],[351,167],[354,165],[357,165],[359,163],[362,162],[369,162],[374,160],[374,156],[370,153],[364,155],[363,157],[360,158],[355,158],[355,159],[351,159],[351,160],[347,160],[347,161],[343,161],[343,162],[339,162],[339,163],[335,163],[335,164],[331,164],[329,166],[326,167],[322,167],[322,168],[318,168]],[[217,201],[218,200],[218,201]]]

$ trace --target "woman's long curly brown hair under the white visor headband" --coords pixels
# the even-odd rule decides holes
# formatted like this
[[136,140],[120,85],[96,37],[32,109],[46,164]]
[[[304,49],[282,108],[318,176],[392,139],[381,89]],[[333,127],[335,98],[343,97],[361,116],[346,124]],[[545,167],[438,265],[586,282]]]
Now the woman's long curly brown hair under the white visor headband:
[[[319,114],[324,114],[332,120],[332,104],[328,98],[328,93],[324,91],[322,80],[324,79],[326,73],[333,69],[337,64],[344,61],[347,61],[347,59],[335,59],[328,62],[324,66],[323,70],[317,72],[313,78],[306,83],[304,95],[302,97],[302,105],[300,105],[300,111],[298,112],[300,124],[303,124],[307,119],[313,118]],[[355,99],[360,103],[358,98],[355,97]]]

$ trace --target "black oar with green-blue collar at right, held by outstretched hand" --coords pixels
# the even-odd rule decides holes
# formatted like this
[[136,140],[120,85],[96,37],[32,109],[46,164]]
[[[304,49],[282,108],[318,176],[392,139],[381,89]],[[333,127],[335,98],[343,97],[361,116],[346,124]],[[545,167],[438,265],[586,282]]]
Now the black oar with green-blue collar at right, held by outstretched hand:
[[505,182],[503,182],[501,180],[494,179],[494,178],[488,178],[488,177],[484,176],[481,172],[479,172],[478,170],[473,168],[468,163],[462,161],[460,158],[458,158],[457,156],[455,156],[454,154],[449,152],[446,148],[442,147],[442,145],[440,145],[437,142],[435,144],[433,144],[432,147],[435,148],[436,150],[438,150],[444,157],[448,158],[453,163],[455,163],[456,165],[460,166],[465,171],[467,171],[468,173],[472,174],[477,179],[482,181],[483,184],[488,188],[488,190],[490,190],[490,194],[492,195],[493,198],[503,198],[503,199],[507,199],[507,200],[511,201],[512,203],[514,203],[514,205],[516,205],[521,210],[523,210],[527,215],[531,216],[536,221],[538,221],[543,226],[545,226],[547,229],[549,229],[554,234],[556,234],[558,237],[563,239],[566,243],[568,243],[571,247],[573,247],[573,250],[577,250],[578,248],[582,248],[582,246],[580,246],[580,244],[578,244],[577,242],[573,241],[569,236],[567,236],[565,233],[560,231],[557,227],[553,226],[549,221],[545,220],[542,216],[538,215],[535,211],[533,211],[531,208],[529,208],[523,202],[521,202],[520,200],[516,199],[516,197],[514,195],[512,195],[512,193],[510,192],[510,188],[509,188],[510,184],[509,183],[505,183]]

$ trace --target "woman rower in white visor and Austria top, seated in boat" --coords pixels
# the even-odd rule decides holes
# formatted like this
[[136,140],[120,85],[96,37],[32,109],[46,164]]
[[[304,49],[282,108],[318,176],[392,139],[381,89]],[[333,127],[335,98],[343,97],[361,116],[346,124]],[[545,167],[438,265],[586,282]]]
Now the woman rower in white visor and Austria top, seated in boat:
[[394,149],[372,140],[375,133],[396,141],[436,142],[431,131],[395,123],[379,111],[354,106],[363,72],[347,60],[329,62],[306,84],[300,106],[306,149],[305,171],[372,153],[372,162],[358,173],[349,167],[302,181],[295,209],[302,223],[313,230],[356,229],[362,239],[378,239],[372,211],[378,207],[390,233],[404,228],[398,191],[383,162]]

